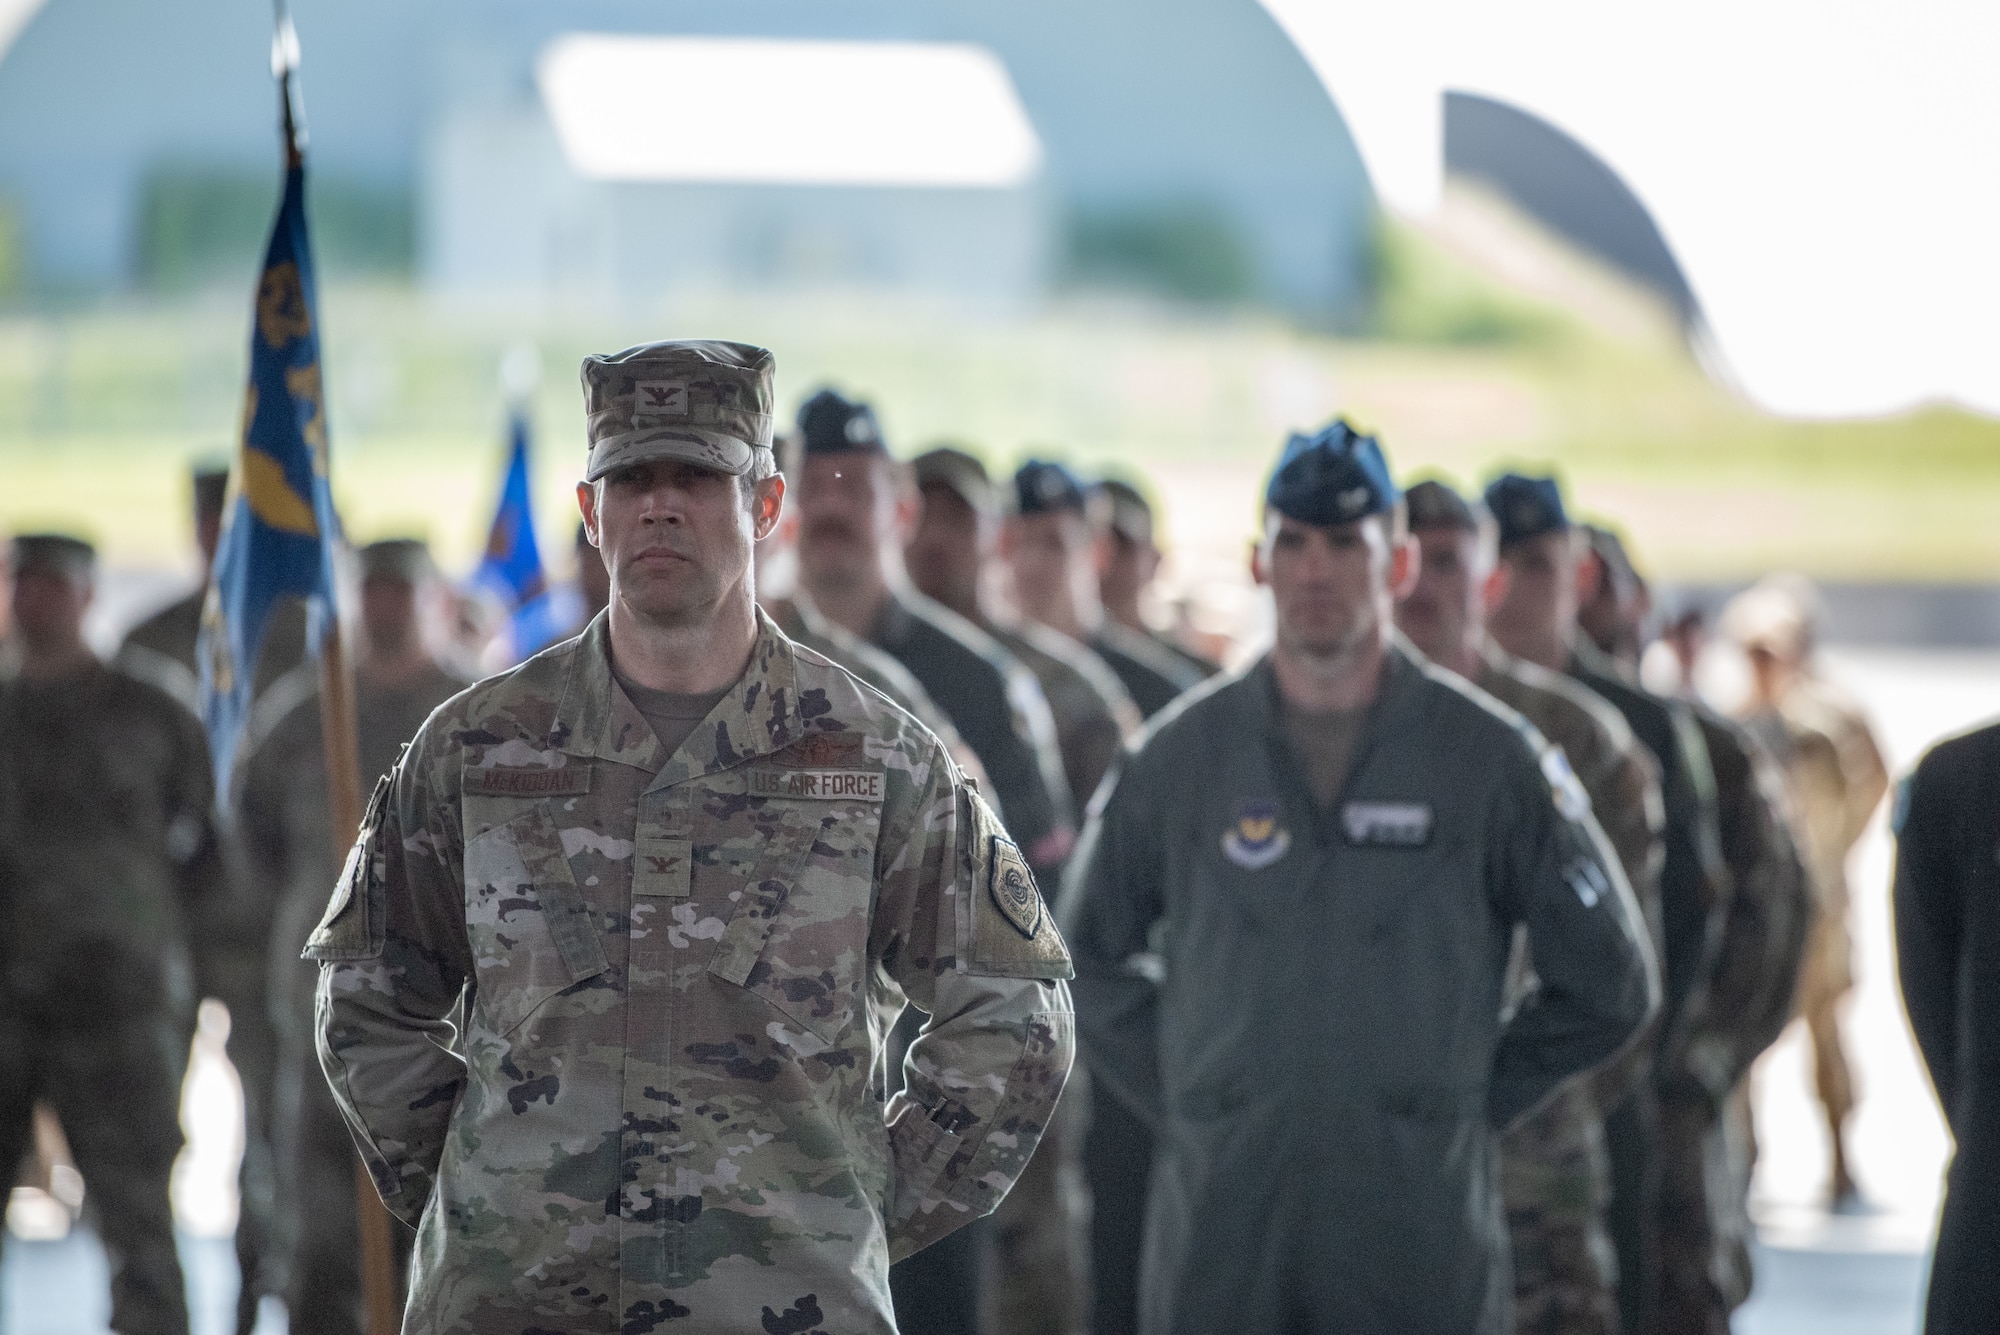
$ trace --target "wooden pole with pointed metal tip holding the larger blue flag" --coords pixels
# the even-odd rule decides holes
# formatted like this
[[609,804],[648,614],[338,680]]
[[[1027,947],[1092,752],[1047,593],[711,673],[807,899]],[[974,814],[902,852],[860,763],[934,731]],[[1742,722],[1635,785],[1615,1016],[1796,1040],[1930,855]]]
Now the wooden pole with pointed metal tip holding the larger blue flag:
[[[298,122],[292,112],[292,72],[298,68],[298,32],[286,12],[286,0],[272,0],[276,34],[272,64],[278,74],[278,102],[284,120],[284,166],[298,170]],[[328,474],[332,460],[328,460]],[[326,755],[326,813],[332,821],[332,845],[348,847],[362,827],[362,757],[360,721],[354,711],[354,666],[348,662],[340,634],[340,580],[330,582],[326,628],[320,640],[320,751]],[[368,1335],[396,1335],[402,1313],[396,1303],[396,1259],[392,1253],[388,1207],[376,1193],[374,1179],[360,1155],[354,1155],[354,1223],[360,1241],[362,1303]]]

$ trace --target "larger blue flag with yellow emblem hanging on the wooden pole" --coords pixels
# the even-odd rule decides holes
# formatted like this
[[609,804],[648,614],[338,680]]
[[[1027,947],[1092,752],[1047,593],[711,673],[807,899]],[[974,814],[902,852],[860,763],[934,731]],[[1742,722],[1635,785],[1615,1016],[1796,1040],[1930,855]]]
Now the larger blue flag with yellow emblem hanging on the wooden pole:
[[308,644],[314,652],[334,612],[340,518],[326,482],[326,398],[320,386],[312,244],[306,236],[306,166],[292,132],[290,90],[284,128],[284,202],[278,204],[256,288],[242,440],[196,652],[202,723],[208,727],[218,791],[228,791],[272,604],[288,596],[308,600]]

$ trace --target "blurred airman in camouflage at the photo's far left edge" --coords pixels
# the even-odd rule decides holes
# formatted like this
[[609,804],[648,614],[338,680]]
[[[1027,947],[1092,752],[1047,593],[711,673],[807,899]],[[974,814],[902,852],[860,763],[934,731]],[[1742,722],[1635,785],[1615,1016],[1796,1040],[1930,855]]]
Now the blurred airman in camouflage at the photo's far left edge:
[[208,743],[82,640],[94,554],[14,540],[20,675],[0,685],[0,1163],[36,1099],[76,1155],[112,1329],[186,1335],[168,1175],[192,1029],[188,937],[228,909]]

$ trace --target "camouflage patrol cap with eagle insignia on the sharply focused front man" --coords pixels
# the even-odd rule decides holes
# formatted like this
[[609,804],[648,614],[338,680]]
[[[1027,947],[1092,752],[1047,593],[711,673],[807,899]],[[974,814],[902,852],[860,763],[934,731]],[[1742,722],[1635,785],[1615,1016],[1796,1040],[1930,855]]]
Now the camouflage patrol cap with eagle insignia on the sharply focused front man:
[[584,358],[584,482],[644,460],[746,474],[770,450],[774,358],[750,344],[672,340]]

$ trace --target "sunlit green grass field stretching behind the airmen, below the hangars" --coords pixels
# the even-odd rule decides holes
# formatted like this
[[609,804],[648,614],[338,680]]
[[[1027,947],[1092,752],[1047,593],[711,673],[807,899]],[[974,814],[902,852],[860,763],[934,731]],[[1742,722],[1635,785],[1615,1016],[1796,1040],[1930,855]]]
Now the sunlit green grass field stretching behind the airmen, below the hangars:
[[[1348,412],[1402,472],[1558,468],[1666,578],[2000,574],[2000,424],[1948,408],[1790,422],[1666,338],[1618,338],[1392,236],[1372,338],[1276,316],[1072,298],[1018,318],[884,302],[712,302],[626,314],[444,310],[402,288],[324,296],[334,476],[356,538],[418,532],[470,564],[498,480],[498,362],[532,340],[544,544],[582,464],[574,368],[648,338],[778,354],[780,408],[832,382],[902,452],[968,442],[1226,486],[1174,492],[1174,538],[1236,562],[1284,432]],[[86,528],[118,564],[180,562],[186,462],[232,446],[250,294],[0,314],[0,530]]]

